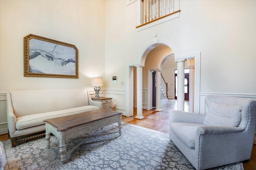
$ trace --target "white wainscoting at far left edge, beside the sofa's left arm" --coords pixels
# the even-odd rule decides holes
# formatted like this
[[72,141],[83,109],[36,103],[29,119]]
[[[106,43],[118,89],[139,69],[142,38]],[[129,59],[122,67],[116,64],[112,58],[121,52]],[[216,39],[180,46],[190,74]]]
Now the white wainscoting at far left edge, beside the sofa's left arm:
[[8,133],[6,113],[6,92],[0,92],[0,134]]

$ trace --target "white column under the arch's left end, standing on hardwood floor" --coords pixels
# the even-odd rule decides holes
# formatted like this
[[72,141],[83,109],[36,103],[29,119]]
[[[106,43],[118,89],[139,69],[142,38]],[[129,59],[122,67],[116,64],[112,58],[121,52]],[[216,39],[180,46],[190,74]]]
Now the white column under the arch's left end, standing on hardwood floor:
[[136,119],[144,119],[142,115],[142,65],[137,67],[137,116]]

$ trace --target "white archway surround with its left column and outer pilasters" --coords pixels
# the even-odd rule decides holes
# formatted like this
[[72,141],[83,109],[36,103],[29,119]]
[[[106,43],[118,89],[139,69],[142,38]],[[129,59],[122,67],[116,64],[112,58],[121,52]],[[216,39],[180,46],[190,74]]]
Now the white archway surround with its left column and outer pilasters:
[[[194,112],[198,113],[199,111],[199,92],[200,92],[200,52],[188,53],[179,55],[176,47],[167,40],[154,40],[148,43],[141,51],[138,56],[138,62],[128,64],[128,86],[127,86],[127,106],[128,106],[128,117],[133,115],[133,102],[130,99],[133,99],[133,67],[137,67],[137,119],[143,119],[142,116],[142,67],[144,67],[145,59],[148,53],[159,45],[166,45],[173,51],[175,61],[177,63],[184,62],[186,59],[195,59],[195,88],[194,88]],[[179,64],[180,65],[180,64]],[[178,65],[178,67],[180,67]],[[138,69],[139,68],[139,69]],[[182,67],[181,67],[182,68]],[[178,68],[179,69],[179,68]],[[183,68],[184,69],[184,68]],[[183,82],[184,84],[184,82]],[[182,101],[182,98],[181,98]],[[180,102],[181,103],[181,102]],[[184,103],[184,99],[183,99]],[[183,108],[184,109],[184,108]]]

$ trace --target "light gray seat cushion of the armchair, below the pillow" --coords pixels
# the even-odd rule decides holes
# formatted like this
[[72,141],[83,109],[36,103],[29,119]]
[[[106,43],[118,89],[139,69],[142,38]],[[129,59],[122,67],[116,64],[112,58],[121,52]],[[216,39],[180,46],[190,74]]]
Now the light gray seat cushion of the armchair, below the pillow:
[[207,125],[199,123],[170,123],[170,130],[189,148],[195,148],[196,130]]

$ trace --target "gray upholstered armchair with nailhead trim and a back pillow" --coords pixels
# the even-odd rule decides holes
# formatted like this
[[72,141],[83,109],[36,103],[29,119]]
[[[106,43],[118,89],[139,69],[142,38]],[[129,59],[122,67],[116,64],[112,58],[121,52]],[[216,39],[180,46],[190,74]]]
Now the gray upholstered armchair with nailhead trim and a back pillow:
[[170,111],[170,140],[197,170],[249,160],[256,130],[256,101],[207,96],[206,115]]

